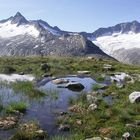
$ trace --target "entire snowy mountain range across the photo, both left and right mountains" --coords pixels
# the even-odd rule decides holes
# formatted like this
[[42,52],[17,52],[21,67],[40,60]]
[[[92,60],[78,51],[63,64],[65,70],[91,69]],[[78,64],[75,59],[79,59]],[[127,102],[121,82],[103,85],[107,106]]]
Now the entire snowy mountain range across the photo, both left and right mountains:
[[0,56],[29,55],[114,57],[140,65],[140,23],[132,21],[93,33],[77,33],[52,27],[43,20],[27,20],[19,12],[1,20]]

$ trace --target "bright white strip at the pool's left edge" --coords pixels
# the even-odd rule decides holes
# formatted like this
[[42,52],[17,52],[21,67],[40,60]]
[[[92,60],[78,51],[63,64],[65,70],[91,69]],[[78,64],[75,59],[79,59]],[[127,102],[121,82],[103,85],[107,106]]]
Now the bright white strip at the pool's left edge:
[[35,77],[32,75],[19,75],[19,74],[0,74],[0,81],[16,82],[16,81],[33,81]]

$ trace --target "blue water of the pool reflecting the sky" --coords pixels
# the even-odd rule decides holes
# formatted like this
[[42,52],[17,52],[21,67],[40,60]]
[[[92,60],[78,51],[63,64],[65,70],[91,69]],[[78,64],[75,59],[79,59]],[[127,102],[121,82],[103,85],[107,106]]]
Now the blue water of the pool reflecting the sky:
[[[82,92],[90,92],[92,85],[95,83],[95,81],[89,77],[67,77],[64,79],[83,84],[85,88]],[[12,89],[4,87],[0,87],[0,96],[5,105],[13,101],[24,101],[28,103],[29,108],[22,118],[23,121],[37,120],[41,127],[47,130],[49,134],[58,134],[59,132],[56,128],[58,113],[60,111],[67,111],[69,97],[76,97],[81,92],[73,92],[67,88],[57,88],[57,85],[53,84],[51,81],[40,86],[40,89],[47,94],[42,100],[29,99],[28,96],[25,96],[24,94],[14,93]],[[58,99],[55,100],[53,96],[57,96]],[[0,132],[0,137],[6,133],[7,135],[10,134],[10,131],[2,133]]]

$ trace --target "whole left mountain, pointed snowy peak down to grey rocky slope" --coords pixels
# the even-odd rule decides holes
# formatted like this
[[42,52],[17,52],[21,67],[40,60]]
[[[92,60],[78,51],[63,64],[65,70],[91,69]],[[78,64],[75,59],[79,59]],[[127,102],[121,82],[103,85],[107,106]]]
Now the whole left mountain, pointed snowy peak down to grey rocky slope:
[[28,21],[21,13],[0,21],[0,56],[89,56],[111,58],[79,33],[52,27],[43,20]]

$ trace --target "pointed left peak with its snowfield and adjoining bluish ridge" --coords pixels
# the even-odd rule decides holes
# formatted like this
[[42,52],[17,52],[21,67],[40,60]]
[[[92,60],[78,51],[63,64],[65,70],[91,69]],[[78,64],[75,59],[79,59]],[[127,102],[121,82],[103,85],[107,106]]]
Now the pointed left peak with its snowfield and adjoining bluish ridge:
[[31,35],[36,38],[45,32],[54,36],[62,35],[58,27],[52,27],[43,20],[28,21],[20,12],[17,12],[15,16],[0,21],[0,37],[2,38],[18,35]]

